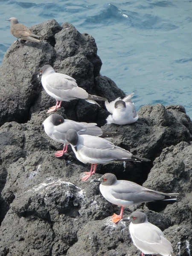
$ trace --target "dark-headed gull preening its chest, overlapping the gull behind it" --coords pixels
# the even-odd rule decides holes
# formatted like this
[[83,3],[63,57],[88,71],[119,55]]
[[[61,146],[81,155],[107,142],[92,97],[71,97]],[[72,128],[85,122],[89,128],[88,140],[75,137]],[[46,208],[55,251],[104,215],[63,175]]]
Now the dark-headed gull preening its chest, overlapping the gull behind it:
[[[86,176],[82,178],[87,180],[96,171],[96,166],[99,163],[108,163],[110,161],[136,161],[148,162],[150,160],[142,157],[137,157],[131,152],[115,146],[100,137],[91,135],[79,135],[75,130],[67,131],[66,139],[73,148],[76,157],[82,163],[91,163],[90,172],[85,172]],[[94,169],[93,169],[94,166]]]

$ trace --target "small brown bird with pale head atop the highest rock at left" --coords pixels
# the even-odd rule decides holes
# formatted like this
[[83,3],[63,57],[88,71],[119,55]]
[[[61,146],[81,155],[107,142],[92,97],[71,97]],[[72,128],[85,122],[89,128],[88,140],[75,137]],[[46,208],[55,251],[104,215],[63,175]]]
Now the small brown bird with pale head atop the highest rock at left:
[[31,42],[41,42],[40,36],[32,34],[32,32],[26,26],[19,23],[15,17],[10,18],[9,21],[11,22],[11,34],[17,38],[14,44],[18,42],[19,38]]

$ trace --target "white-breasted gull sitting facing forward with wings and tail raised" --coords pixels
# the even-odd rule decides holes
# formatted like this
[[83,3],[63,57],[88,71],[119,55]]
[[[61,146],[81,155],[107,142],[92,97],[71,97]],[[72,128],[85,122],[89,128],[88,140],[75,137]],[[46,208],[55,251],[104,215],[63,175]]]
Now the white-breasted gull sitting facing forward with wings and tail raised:
[[129,125],[138,120],[139,116],[134,104],[131,102],[133,95],[134,93],[131,93],[124,99],[119,97],[113,102],[105,102],[107,110],[112,114],[106,119],[108,124]]

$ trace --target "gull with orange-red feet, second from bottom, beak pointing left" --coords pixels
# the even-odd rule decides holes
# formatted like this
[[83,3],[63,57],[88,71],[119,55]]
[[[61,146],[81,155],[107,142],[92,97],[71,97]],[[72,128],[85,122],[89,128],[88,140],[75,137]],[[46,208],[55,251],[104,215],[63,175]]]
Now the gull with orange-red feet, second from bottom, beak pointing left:
[[103,197],[110,203],[121,206],[120,215],[113,214],[113,222],[117,223],[122,219],[123,210],[134,204],[141,204],[153,201],[177,200],[183,197],[178,193],[163,193],[152,189],[147,189],[137,183],[128,180],[117,180],[112,173],[106,173],[99,179],[91,180],[91,182],[100,182],[100,192]]

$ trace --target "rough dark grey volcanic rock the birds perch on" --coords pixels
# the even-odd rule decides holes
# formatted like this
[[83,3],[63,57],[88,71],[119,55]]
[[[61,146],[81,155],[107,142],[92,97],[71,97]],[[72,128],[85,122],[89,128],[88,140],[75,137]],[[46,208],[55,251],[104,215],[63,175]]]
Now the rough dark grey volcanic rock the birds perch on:
[[[140,251],[131,242],[127,221],[111,222],[120,208],[106,201],[98,183],[82,182],[90,165],[80,163],[42,127],[47,109],[55,104],[37,79],[38,70],[51,64],[73,76],[89,93],[109,101],[125,94],[105,76],[94,39],[74,26],[55,20],[30,28],[44,39],[41,44],[12,45],[4,56],[0,97],[0,256],[132,256]],[[131,93],[131,92],[130,92]],[[101,103],[102,104],[102,103]],[[79,121],[105,124],[105,108],[83,100],[64,102],[58,110]],[[146,105],[132,125],[104,125],[119,131],[113,143],[150,163],[111,162],[99,165],[95,177],[113,172],[162,192],[186,196],[178,202],[126,208],[144,211],[160,227],[180,256],[192,253],[192,122],[180,105]],[[27,122],[28,121],[28,122]]]

